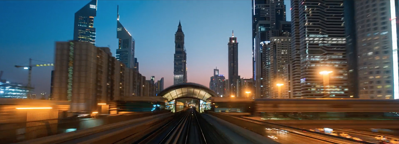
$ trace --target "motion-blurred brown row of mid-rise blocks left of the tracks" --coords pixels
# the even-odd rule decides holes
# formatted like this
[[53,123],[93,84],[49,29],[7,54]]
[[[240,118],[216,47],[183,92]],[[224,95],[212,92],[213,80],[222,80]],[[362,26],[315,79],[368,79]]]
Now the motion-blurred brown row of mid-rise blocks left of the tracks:
[[[52,100],[71,101],[71,112],[99,112],[98,103],[155,96],[154,84],[112,56],[108,47],[56,42]],[[147,85],[147,86],[146,86]]]

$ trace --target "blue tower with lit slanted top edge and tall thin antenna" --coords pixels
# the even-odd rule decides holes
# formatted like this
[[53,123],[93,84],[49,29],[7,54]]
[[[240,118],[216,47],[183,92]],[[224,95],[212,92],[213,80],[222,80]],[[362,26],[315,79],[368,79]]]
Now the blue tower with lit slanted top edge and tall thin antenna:
[[117,8],[117,38],[119,40],[117,54],[115,55],[117,60],[124,63],[127,68],[133,68],[135,41],[132,35],[119,22],[119,6]]

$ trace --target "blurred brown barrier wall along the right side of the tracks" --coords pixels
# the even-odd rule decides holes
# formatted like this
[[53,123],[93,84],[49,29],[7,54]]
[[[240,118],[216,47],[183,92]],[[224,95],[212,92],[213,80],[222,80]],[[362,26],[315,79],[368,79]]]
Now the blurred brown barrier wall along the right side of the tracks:
[[260,128],[259,125],[263,125],[263,126],[267,126],[267,127],[271,127],[271,128],[283,129],[283,130],[286,130],[286,131],[300,130],[300,131],[304,131],[304,132],[309,132],[309,133],[312,133],[314,135],[300,134],[298,132],[291,131],[294,134],[299,134],[299,135],[310,137],[310,138],[316,138],[318,140],[322,140],[322,141],[326,141],[326,142],[332,142],[332,143],[335,143],[335,144],[354,144],[354,143],[374,144],[374,143],[371,143],[371,142],[357,141],[357,140],[352,140],[350,138],[344,138],[344,137],[334,136],[334,135],[330,135],[330,134],[312,132],[310,130],[305,130],[305,129],[301,129],[301,128],[294,128],[294,127],[291,127],[291,126],[284,126],[284,125],[281,125],[281,124],[273,124],[273,123],[269,123],[269,122],[263,122],[263,121],[260,121],[260,120],[252,120],[252,119],[249,119],[249,118],[240,118],[240,117],[230,116],[230,115],[221,114],[221,113],[218,113],[218,112],[207,111],[207,113],[211,114],[213,116],[219,117],[219,118],[221,118],[223,120],[226,120],[228,122],[231,122],[233,124],[236,124],[238,126],[247,128],[248,130],[251,130],[251,131],[256,132],[258,134],[261,134],[261,135],[266,135],[266,132],[265,132],[264,128],[263,127]]

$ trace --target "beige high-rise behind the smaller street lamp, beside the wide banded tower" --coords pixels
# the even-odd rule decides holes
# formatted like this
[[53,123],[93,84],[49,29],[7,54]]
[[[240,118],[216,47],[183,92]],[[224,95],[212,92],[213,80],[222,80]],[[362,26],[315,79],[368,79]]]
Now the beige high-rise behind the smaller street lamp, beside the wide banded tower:
[[[269,96],[272,98],[288,98],[287,85],[280,85],[285,83],[284,78],[284,67],[289,64],[290,59],[290,37],[271,37],[271,41],[268,44],[269,57],[270,57],[270,68],[269,80],[270,80],[270,93]],[[280,85],[280,86],[277,86]],[[282,95],[278,95],[280,93]]]

